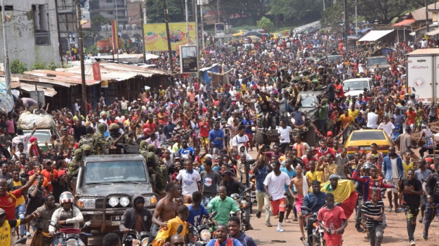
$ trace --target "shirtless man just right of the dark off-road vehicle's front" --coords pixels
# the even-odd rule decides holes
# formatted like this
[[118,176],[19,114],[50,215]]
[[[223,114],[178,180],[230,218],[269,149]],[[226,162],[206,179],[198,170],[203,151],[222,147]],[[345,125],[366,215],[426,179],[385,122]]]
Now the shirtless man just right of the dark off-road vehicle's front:
[[158,201],[156,210],[152,215],[152,227],[150,241],[154,241],[160,227],[166,227],[167,221],[174,219],[177,216],[178,205],[174,199],[180,197],[177,185],[169,183],[165,186],[166,195]]

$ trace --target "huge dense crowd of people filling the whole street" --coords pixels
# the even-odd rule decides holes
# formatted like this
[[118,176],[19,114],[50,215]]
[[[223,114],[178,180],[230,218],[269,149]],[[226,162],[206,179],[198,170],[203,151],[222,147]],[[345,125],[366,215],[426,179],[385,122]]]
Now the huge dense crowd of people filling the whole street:
[[[366,67],[368,56],[383,47],[392,48],[386,55],[390,69]],[[132,197],[121,234],[106,235],[104,245],[118,245],[130,229],[150,232],[152,245],[184,245],[186,238],[193,241],[189,225],[200,225],[212,212],[217,234],[209,246],[256,245],[240,230],[243,223],[252,230],[250,209],[239,219],[242,211],[231,198],[248,188],[256,193],[256,218],[264,209],[265,224],[272,227],[274,217],[274,233],[284,232],[284,222],[298,221],[297,240],[313,240],[306,206],[318,214],[328,246],[342,245],[354,208],[355,228],[367,230],[372,246],[381,245],[385,212],[405,212],[411,246],[416,223],[423,223],[420,238],[427,241],[439,206],[439,162],[429,156],[436,146],[429,126],[438,119],[439,105],[423,105],[405,86],[405,54],[417,47],[429,45],[348,47],[341,36],[322,32],[223,45],[211,40],[201,63],[232,70],[221,86],[181,76],[167,88],[139,92],[134,101],[109,100],[102,93],[86,113],[80,101],[56,109],[19,98],[12,112],[0,115],[0,245],[30,236],[30,227],[34,238],[40,235],[34,245],[57,243],[48,220],[78,229],[84,220],[74,205],[80,164],[86,156],[106,153],[115,139],[139,145],[160,199],[152,213],[143,197]],[[336,54],[339,60],[327,60]],[[154,64],[168,70],[167,54]],[[374,86],[358,97],[346,96],[342,82],[354,77],[370,77]],[[299,110],[303,90],[321,91],[313,123]],[[38,146],[36,125],[23,134],[18,122],[23,112],[54,119],[59,135],[44,143],[47,151]],[[304,127],[315,128],[318,145],[305,143],[306,132],[298,134]],[[372,143],[370,151],[357,151],[350,160],[343,147],[346,132],[369,129],[382,129],[394,146],[379,149]],[[261,143],[254,138],[257,131],[275,132],[278,141]],[[420,135],[418,153],[413,132]]]

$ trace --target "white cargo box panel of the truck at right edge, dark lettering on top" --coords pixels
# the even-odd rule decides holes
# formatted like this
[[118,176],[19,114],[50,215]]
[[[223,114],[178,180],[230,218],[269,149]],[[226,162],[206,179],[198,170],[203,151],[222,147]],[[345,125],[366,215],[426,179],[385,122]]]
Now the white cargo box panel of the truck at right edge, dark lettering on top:
[[429,100],[433,93],[431,91],[431,56],[407,58],[407,84],[412,88],[419,101]]

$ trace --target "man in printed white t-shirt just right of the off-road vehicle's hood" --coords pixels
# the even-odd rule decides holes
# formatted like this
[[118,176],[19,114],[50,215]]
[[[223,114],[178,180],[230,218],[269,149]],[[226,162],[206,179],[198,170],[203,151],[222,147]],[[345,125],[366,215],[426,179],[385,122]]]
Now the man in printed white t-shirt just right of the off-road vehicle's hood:
[[191,159],[185,160],[185,169],[180,170],[176,180],[181,183],[182,195],[192,195],[201,190],[200,173],[193,169]]

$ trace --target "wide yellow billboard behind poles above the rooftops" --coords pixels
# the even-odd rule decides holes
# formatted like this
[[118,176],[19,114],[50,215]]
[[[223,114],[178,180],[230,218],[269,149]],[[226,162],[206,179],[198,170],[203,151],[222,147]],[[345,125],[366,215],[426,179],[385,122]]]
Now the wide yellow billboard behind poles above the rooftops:
[[[145,51],[167,51],[167,36],[165,23],[154,23],[143,25],[145,31]],[[169,37],[171,49],[178,51],[180,45],[186,45],[186,23],[169,23]],[[189,44],[196,42],[195,22],[189,22]]]

